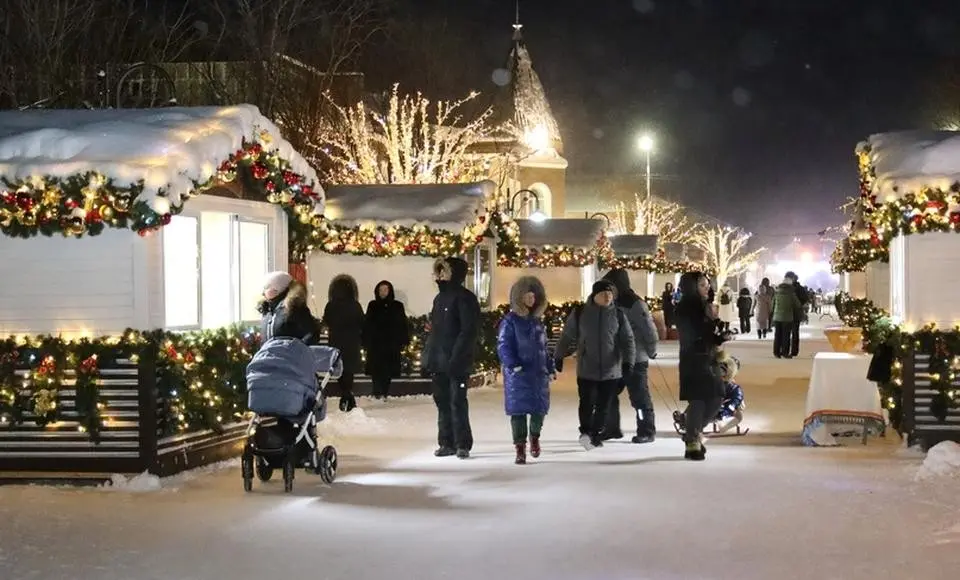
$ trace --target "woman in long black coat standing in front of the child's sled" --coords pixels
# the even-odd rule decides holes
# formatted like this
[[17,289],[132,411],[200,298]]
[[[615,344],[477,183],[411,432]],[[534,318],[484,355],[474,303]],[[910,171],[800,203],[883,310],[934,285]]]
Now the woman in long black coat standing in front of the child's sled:
[[687,401],[683,414],[686,443],[684,458],[703,461],[706,448],[700,440],[703,428],[717,415],[723,401],[723,380],[717,364],[718,347],[730,340],[720,333],[707,297],[710,282],[701,272],[680,277],[680,302],[676,309],[680,339],[680,400]]

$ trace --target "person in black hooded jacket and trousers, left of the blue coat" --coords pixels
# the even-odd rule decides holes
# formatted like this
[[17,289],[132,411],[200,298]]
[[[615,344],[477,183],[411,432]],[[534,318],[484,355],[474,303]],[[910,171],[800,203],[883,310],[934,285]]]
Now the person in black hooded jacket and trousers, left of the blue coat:
[[467,381],[476,358],[480,303],[463,287],[467,263],[460,258],[438,259],[433,275],[440,291],[433,299],[430,334],[420,358],[424,371],[433,377],[438,443],[434,455],[467,459],[473,448]]

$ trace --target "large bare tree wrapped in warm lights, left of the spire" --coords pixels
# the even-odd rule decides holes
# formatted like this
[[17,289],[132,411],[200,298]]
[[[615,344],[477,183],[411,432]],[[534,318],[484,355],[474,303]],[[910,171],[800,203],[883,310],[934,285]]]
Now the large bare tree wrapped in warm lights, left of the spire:
[[306,156],[331,169],[335,183],[463,183],[483,179],[490,159],[472,148],[491,132],[491,109],[464,119],[471,93],[457,101],[431,102],[394,85],[384,111],[360,102],[330,103],[332,120],[310,140]]

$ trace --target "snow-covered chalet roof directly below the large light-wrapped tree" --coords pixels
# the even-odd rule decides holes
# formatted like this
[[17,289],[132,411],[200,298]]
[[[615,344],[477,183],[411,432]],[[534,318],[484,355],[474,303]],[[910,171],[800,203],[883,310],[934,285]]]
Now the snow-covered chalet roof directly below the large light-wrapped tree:
[[474,223],[486,197],[496,190],[492,181],[439,185],[335,185],[326,190],[328,219],[344,226],[425,225],[461,231]]

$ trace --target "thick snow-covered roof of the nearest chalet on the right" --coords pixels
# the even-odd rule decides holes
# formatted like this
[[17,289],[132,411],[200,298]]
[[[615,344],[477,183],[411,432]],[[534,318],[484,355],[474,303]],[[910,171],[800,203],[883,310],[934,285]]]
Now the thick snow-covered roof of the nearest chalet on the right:
[[870,148],[876,195],[906,194],[923,187],[946,191],[960,182],[960,132],[879,133],[861,143],[858,151],[864,146]]

